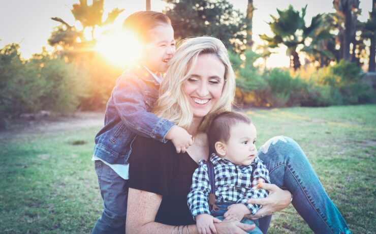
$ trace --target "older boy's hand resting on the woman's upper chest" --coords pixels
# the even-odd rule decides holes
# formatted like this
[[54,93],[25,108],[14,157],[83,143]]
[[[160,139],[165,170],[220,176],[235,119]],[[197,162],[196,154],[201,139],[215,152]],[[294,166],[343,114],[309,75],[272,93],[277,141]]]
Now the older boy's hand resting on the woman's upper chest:
[[185,153],[186,149],[193,144],[192,135],[177,125],[170,129],[166,135],[166,139],[172,141],[176,148],[176,153]]

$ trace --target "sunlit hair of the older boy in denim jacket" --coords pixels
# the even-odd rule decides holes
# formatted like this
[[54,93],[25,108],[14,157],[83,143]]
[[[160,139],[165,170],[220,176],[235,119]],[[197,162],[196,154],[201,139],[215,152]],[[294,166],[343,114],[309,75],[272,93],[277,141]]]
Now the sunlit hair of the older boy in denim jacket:
[[171,25],[170,18],[161,12],[138,11],[124,20],[123,28],[132,30],[140,40],[147,41],[150,30],[161,24]]

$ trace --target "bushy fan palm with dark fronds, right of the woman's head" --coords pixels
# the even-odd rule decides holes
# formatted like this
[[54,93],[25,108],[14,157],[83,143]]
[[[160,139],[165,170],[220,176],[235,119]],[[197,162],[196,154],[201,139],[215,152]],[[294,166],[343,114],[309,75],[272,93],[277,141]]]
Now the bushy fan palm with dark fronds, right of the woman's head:
[[312,17],[311,24],[305,26],[304,16],[307,5],[301,12],[295,11],[292,5],[286,10],[277,12],[279,17],[272,17],[268,22],[274,37],[260,35],[260,38],[267,41],[270,48],[278,47],[280,44],[287,46],[287,54],[290,56],[290,67],[297,70],[300,67],[298,46],[304,46],[306,39],[312,38],[322,24],[321,14]]

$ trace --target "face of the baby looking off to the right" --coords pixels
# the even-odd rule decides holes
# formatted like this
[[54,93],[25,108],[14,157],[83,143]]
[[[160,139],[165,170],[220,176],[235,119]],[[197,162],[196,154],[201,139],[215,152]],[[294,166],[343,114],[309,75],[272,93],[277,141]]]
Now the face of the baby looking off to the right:
[[257,131],[253,124],[238,123],[230,131],[230,139],[225,143],[225,159],[237,165],[248,166],[256,158]]

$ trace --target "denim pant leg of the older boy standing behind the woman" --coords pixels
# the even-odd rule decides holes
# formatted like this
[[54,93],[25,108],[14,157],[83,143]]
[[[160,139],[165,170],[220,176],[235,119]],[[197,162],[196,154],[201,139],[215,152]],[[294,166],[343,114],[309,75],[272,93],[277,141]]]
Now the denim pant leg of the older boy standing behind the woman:
[[128,180],[122,179],[102,161],[95,161],[103,212],[91,233],[126,233]]

